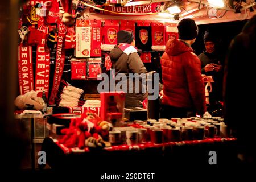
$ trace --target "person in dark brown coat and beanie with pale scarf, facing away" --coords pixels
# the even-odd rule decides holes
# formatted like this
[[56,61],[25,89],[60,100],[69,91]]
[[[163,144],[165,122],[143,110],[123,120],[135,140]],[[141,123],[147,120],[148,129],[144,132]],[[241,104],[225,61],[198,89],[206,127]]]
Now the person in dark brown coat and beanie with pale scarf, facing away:
[[[128,76],[129,73],[138,73],[138,75],[147,73],[147,69],[144,67],[134,46],[135,40],[131,32],[121,30],[117,33],[117,45],[110,51],[110,59],[112,60],[112,68],[115,69],[115,74],[124,73]],[[132,82],[133,80],[128,79],[127,92],[129,92],[129,89],[134,91],[135,84],[133,83],[133,86],[129,86]],[[141,82],[139,84],[141,88]],[[146,93],[127,93],[125,107],[142,107],[141,102],[145,98]]]

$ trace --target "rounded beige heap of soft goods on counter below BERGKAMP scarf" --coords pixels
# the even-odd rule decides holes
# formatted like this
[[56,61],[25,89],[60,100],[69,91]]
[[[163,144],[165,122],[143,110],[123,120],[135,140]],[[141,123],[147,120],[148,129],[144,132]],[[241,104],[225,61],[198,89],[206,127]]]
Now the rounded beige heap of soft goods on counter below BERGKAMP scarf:
[[43,98],[38,97],[38,91],[36,92],[34,90],[31,90],[24,95],[19,95],[18,97],[16,97],[14,104],[21,110],[42,110],[45,106]]

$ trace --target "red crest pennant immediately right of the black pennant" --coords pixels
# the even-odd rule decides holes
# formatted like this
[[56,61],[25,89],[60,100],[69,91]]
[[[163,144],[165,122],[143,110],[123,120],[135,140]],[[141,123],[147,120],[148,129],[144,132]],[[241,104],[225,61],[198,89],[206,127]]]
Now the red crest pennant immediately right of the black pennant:
[[152,22],[152,49],[155,51],[166,50],[166,35],[163,23]]

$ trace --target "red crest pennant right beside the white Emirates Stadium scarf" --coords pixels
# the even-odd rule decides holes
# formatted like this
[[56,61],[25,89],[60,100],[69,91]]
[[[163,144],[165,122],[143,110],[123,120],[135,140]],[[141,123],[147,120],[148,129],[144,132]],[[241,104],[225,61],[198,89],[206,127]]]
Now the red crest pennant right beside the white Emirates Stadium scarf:
[[117,44],[117,32],[119,31],[118,20],[105,20],[103,31],[103,44],[101,49],[103,51],[111,51]]

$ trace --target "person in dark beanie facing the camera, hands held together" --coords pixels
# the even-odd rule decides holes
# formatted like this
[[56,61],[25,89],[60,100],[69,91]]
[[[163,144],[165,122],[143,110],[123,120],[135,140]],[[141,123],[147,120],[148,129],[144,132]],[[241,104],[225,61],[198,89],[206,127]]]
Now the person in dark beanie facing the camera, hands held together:
[[218,39],[212,31],[205,31],[204,46],[205,51],[198,57],[201,61],[201,73],[207,76],[212,76],[212,92],[209,94],[209,102],[211,110],[216,109],[218,101],[222,101],[222,80],[223,69],[220,53],[217,51]]

